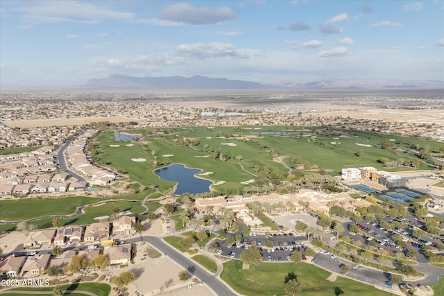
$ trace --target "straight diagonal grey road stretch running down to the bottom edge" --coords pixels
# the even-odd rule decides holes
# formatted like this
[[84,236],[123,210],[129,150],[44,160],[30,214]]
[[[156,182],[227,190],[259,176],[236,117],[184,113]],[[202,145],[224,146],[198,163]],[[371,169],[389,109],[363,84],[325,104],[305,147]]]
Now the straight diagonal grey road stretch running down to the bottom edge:
[[203,270],[203,268],[200,268],[196,263],[185,257],[184,255],[180,254],[177,250],[175,250],[173,247],[170,247],[166,243],[162,241],[162,238],[158,238],[157,236],[142,236],[142,240],[146,241],[148,243],[151,243],[157,250],[160,250],[160,252],[163,252],[164,254],[167,254],[173,261],[178,263],[179,265],[182,265],[183,268],[189,269],[190,267],[194,269],[194,272],[192,272],[193,275],[198,277],[201,281],[203,281],[207,286],[210,286],[212,290],[216,293],[216,295],[223,295],[223,296],[237,296],[236,293],[234,293],[228,286],[225,286],[221,279],[218,279],[214,275],[210,275],[206,270]]

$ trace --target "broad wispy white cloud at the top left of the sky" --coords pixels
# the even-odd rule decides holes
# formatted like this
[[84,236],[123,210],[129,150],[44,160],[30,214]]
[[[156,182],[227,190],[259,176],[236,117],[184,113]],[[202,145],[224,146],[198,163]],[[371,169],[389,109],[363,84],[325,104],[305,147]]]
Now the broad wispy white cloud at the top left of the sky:
[[133,13],[106,10],[103,7],[76,1],[37,1],[35,5],[17,8],[25,23],[58,23],[62,21],[96,23],[104,19],[132,19]]

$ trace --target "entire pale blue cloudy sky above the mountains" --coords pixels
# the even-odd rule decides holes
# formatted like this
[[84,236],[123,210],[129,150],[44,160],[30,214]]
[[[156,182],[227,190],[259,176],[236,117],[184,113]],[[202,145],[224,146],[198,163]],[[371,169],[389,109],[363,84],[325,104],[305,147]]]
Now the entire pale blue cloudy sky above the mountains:
[[444,1],[0,1],[2,85],[444,80]]

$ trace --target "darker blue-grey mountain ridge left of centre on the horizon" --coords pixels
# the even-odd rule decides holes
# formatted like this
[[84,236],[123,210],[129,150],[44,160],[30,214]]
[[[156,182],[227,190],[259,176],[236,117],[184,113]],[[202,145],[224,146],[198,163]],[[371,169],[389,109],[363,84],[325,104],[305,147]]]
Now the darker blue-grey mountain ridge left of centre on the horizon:
[[[107,78],[89,79],[85,89],[267,89],[271,85],[227,78],[209,78],[205,76],[170,76],[170,77],[133,77],[111,75]],[[282,88],[282,86],[274,86]]]

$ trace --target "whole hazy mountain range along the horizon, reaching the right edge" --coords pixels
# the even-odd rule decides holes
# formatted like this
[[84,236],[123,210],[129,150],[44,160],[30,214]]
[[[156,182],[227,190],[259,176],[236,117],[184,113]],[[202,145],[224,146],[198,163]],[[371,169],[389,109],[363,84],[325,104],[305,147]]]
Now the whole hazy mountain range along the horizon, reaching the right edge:
[[110,75],[89,79],[81,89],[444,89],[438,80],[336,79],[282,81],[262,84],[253,81],[210,78],[205,76],[133,77]]

